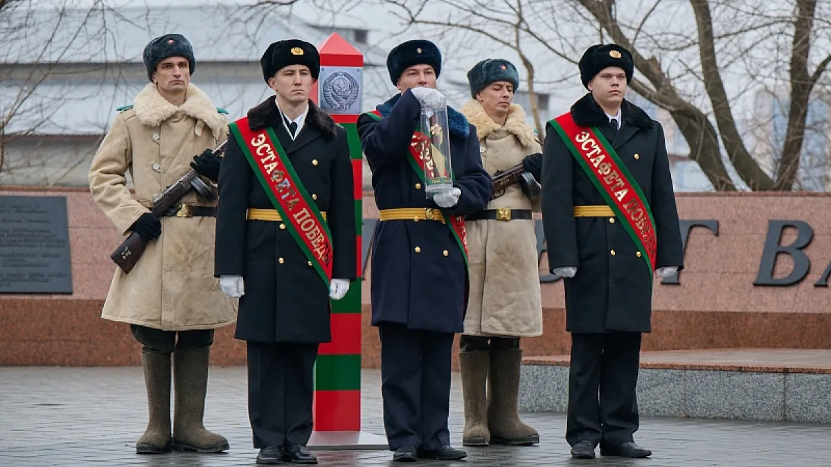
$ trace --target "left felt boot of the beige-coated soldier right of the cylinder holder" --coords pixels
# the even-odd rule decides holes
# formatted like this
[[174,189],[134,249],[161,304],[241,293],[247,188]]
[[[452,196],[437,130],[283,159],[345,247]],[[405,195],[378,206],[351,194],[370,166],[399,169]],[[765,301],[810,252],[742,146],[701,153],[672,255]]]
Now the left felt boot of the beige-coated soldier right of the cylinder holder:
[[459,352],[462,394],[465,400],[465,431],[462,435],[462,444],[465,446],[486,446],[490,443],[486,394],[489,364],[489,351]]

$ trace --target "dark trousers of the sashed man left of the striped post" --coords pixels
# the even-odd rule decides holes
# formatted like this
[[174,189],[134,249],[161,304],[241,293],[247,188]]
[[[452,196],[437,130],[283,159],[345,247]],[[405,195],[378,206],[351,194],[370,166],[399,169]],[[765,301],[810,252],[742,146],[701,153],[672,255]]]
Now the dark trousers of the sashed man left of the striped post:
[[308,443],[317,348],[308,343],[248,342],[248,417],[254,448]]

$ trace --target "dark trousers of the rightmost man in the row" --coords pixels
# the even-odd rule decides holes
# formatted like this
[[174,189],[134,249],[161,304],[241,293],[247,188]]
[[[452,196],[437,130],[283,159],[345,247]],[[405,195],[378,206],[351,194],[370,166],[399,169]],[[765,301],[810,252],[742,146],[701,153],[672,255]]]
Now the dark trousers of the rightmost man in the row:
[[635,389],[640,351],[639,332],[572,333],[569,445],[588,440],[612,446],[633,440],[639,420]]

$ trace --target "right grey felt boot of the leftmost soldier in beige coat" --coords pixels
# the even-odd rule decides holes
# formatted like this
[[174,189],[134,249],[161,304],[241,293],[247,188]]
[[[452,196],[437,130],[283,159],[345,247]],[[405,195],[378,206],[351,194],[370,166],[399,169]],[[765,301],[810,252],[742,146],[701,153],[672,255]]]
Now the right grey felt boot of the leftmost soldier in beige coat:
[[208,392],[209,347],[177,350],[173,354],[175,381],[175,412],[173,449],[197,452],[229,450],[222,435],[205,430],[205,396]]

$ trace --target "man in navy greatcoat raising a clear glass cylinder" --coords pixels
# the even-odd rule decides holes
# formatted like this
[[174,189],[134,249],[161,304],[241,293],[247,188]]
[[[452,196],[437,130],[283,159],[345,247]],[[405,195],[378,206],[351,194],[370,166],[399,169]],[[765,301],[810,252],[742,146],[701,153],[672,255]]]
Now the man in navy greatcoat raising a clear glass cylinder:
[[493,189],[476,130],[448,107],[453,187],[428,199],[411,154],[421,106],[435,106],[441,54],[429,41],[392,49],[386,61],[401,94],[359,117],[380,222],[372,238],[372,324],[381,335],[384,422],[394,460],[460,460],[450,446],[450,357],[463,331],[468,291],[461,216]]

